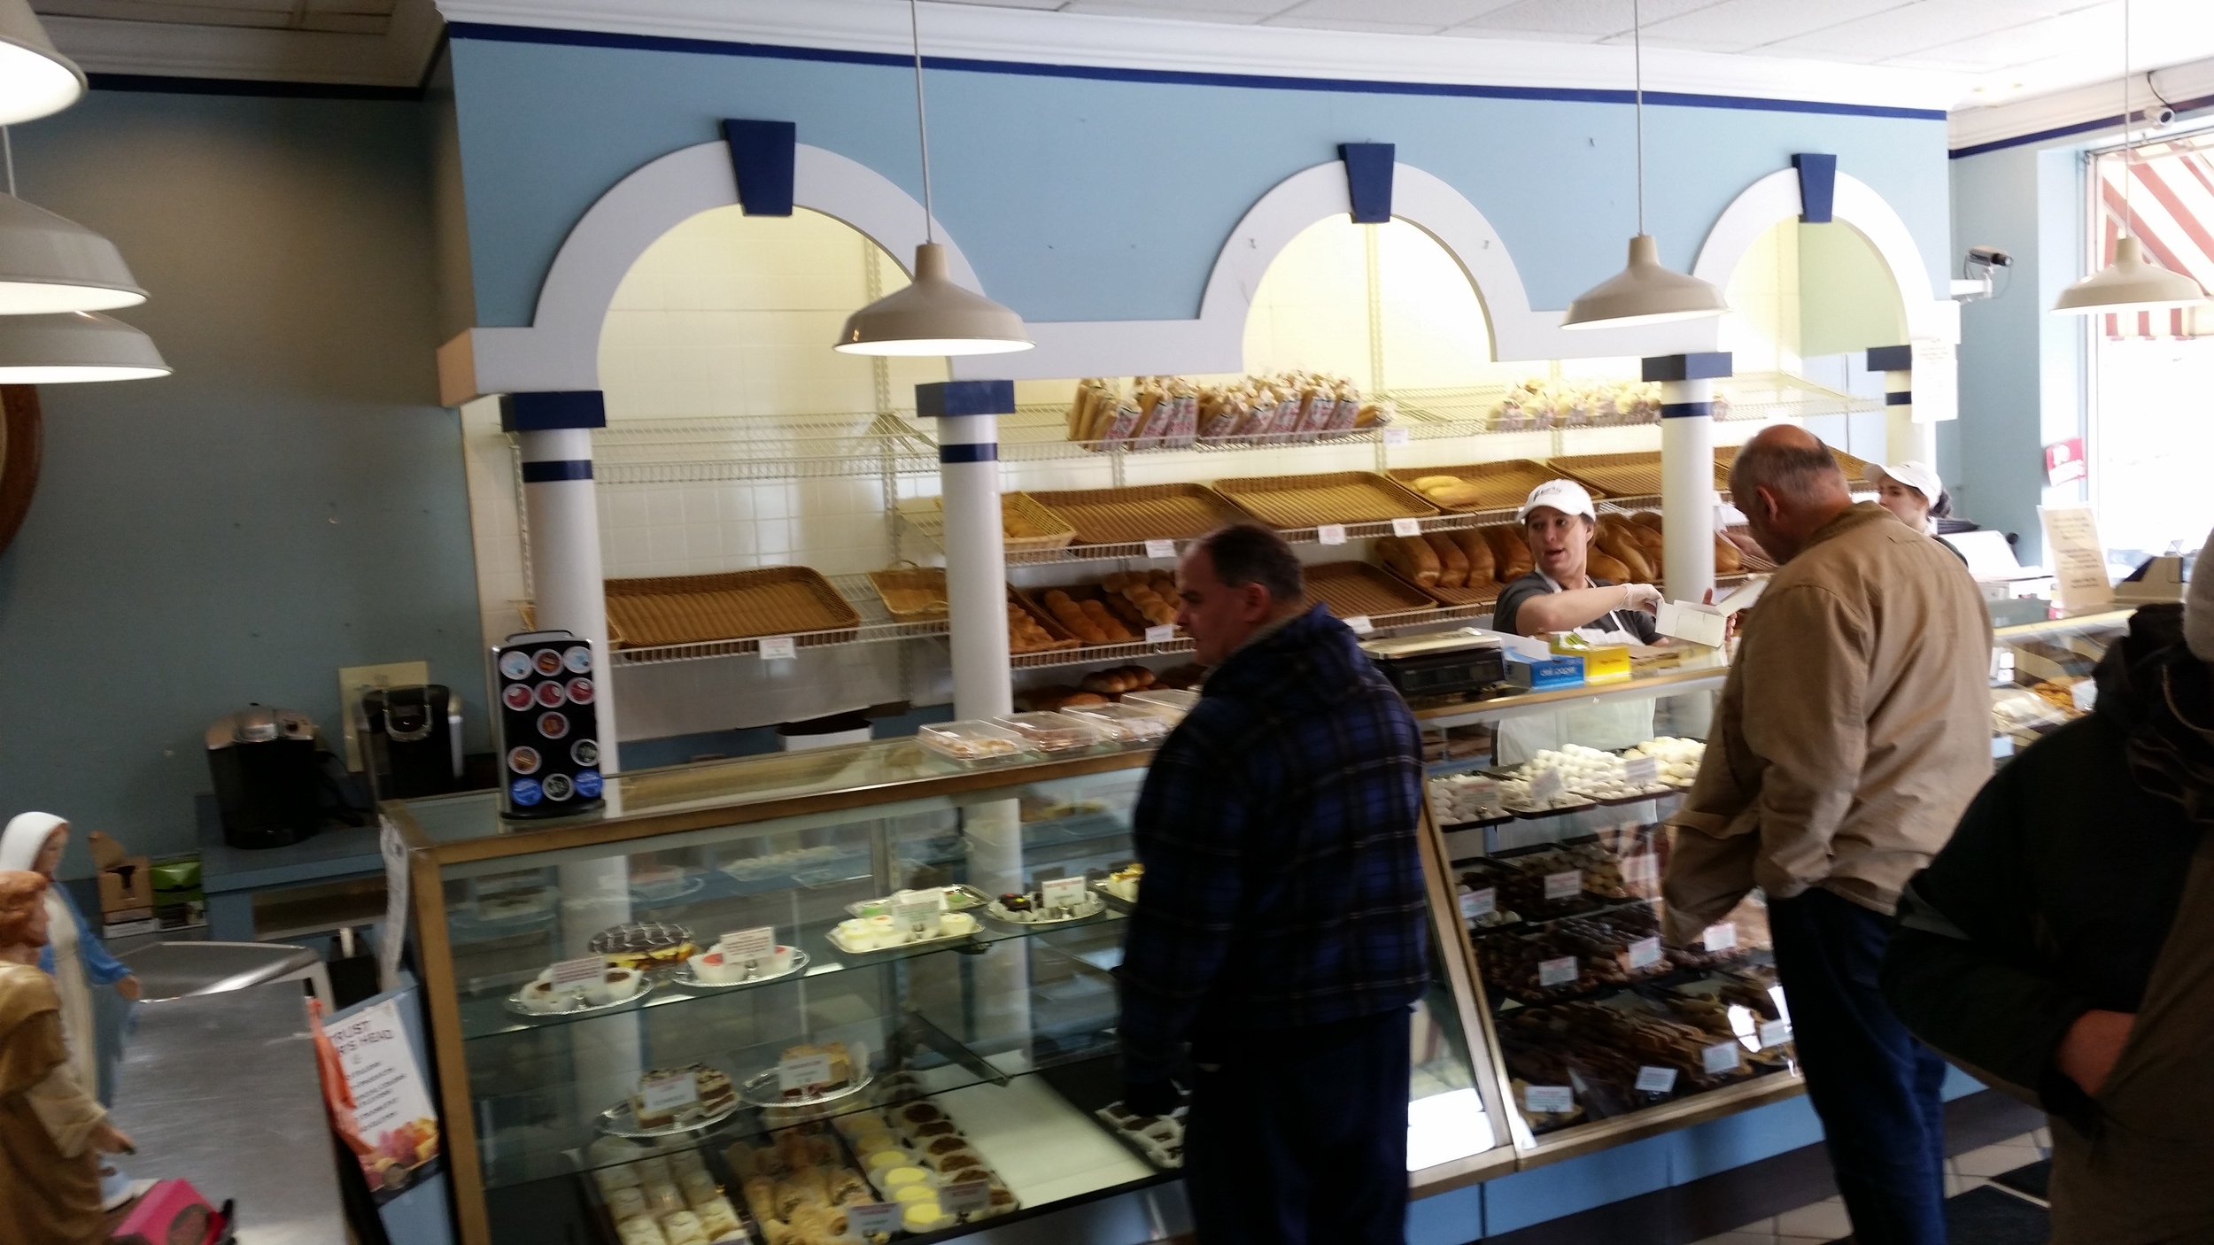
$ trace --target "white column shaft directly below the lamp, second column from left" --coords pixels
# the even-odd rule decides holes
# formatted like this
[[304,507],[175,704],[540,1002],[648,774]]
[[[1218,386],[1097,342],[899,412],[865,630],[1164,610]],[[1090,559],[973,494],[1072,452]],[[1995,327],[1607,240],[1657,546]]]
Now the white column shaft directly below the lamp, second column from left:
[[939,490],[945,505],[945,616],[954,651],[954,716],[1012,713],[996,414],[939,416]]

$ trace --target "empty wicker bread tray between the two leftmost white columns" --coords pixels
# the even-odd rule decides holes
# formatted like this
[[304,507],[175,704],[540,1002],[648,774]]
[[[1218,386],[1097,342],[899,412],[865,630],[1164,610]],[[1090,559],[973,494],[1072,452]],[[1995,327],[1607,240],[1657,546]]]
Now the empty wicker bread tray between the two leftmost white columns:
[[751,636],[841,645],[855,638],[859,625],[852,605],[810,567],[607,580],[607,629],[618,649]]

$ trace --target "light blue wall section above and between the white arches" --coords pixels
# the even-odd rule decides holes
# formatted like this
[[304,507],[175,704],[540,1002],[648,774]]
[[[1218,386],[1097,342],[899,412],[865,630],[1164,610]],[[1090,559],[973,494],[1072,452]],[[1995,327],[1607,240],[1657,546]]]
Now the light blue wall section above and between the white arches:
[[[773,55],[509,42],[456,31],[454,82],[480,326],[529,323],[560,241],[609,186],[715,140],[720,117],[793,120],[921,197],[908,69]],[[1614,275],[1636,228],[1618,102],[1300,91],[932,69],[937,213],[985,290],[1030,319],[1198,315],[1222,239],[1339,142],[1393,142],[1499,228],[1532,306]],[[1944,279],[1937,120],[1647,109],[1647,224],[1687,268],[1707,228],[1793,151],[1829,151],[1897,208]]]

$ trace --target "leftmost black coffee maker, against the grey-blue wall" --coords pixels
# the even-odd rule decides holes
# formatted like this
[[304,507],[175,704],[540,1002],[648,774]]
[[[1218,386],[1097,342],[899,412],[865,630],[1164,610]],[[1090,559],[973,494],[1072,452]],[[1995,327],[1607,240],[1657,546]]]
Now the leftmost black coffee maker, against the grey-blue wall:
[[248,704],[208,727],[208,775],[224,842],[297,844],[323,824],[323,733],[314,718]]

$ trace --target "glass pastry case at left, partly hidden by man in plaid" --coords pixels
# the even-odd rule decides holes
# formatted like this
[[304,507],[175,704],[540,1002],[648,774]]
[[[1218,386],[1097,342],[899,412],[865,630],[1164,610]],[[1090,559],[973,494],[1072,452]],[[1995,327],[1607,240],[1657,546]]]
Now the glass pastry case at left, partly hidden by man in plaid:
[[[1149,755],[886,740],[622,775],[565,822],[387,804],[463,1238],[941,1238],[1173,1181],[1180,1121],[1116,1103]],[[1417,1196],[1514,1163],[1439,844]]]

